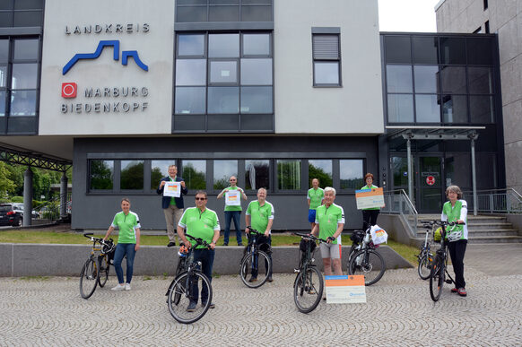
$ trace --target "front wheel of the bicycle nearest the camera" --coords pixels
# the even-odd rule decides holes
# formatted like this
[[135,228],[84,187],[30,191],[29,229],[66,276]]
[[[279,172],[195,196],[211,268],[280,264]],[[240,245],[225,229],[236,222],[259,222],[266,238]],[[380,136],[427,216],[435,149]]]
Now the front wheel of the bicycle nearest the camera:
[[[208,291],[208,299],[198,304],[201,291]],[[189,306],[194,303],[193,307]],[[170,284],[167,305],[169,312],[179,323],[194,323],[204,317],[212,303],[212,286],[208,278],[199,272],[181,273]]]

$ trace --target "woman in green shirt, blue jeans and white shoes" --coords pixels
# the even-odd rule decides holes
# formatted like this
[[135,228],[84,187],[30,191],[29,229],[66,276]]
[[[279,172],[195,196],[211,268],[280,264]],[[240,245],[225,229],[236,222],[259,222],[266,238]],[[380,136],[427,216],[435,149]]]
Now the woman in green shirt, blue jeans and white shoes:
[[[117,238],[116,251],[114,252],[113,265],[117,275],[117,286],[111,291],[130,291],[130,282],[133,279],[133,270],[135,263],[135,255],[140,249],[140,219],[138,215],[130,211],[130,200],[127,197],[121,199],[121,212],[116,213],[112,223],[110,224],[105,238],[116,228],[119,229],[119,236]],[[121,262],[126,256],[126,282],[123,279],[123,268]]]

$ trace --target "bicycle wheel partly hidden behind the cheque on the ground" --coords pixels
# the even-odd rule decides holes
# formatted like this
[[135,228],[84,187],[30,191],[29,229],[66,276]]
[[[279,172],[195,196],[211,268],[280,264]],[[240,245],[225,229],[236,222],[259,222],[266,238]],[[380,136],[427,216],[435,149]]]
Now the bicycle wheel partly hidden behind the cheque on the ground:
[[364,275],[364,285],[372,285],[382,278],[386,271],[383,257],[374,249],[362,249],[355,253],[348,265],[348,274]]

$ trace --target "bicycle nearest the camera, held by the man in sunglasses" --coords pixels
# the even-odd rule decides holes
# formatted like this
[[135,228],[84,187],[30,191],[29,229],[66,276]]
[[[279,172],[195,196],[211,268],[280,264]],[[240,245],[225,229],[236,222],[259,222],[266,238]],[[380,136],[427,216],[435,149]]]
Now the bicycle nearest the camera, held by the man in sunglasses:
[[[177,273],[174,280],[170,282],[169,290],[165,294],[170,315],[183,324],[194,323],[204,317],[212,303],[213,294],[211,282],[201,272],[201,262],[194,261],[193,252],[198,246],[210,248],[210,244],[204,239],[194,238],[188,234],[186,236],[187,239],[196,241],[196,245],[188,248],[187,256],[184,256],[185,260],[181,260],[183,262],[181,265],[178,261],[177,272],[179,270],[180,273]],[[201,288],[201,291],[208,292],[206,302],[202,302],[201,305],[197,305],[199,288]],[[196,308],[189,308],[193,302],[196,302]]]

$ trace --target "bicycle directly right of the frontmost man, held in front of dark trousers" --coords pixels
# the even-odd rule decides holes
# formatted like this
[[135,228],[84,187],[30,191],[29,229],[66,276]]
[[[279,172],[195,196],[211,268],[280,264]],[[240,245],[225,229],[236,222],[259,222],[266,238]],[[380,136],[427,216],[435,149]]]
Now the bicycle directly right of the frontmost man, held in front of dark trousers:
[[[245,247],[245,252],[240,263],[239,276],[248,288],[259,288],[265,284],[272,273],[272,260],[267,254],[267,252],[272,252],[272,249],[270,245],[266,243],[257,243],[260,237],[265,236],[264,233],[254,230],[249,226],[247,228],[250,230],[252,238],[250,238],[248,246]],[[263,245],[268,246],[266,251],[260,249]],[[259,259],[262,261],[265,260],[265,272],[259,269]],[[251,276],[249,280],[247,279],[248,273],[250,273]]]

